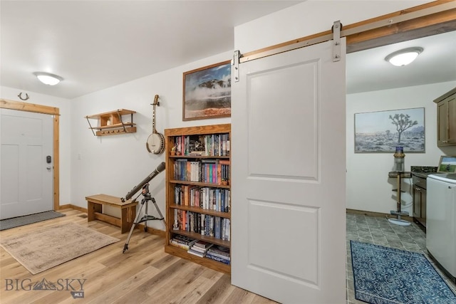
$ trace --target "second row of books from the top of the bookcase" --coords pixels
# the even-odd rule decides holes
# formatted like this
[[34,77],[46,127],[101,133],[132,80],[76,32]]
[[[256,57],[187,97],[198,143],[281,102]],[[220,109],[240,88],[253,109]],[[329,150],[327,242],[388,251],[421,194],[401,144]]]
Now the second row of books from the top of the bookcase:
[[182,158],[176,159],[174,162],[174,179],[222,184],[222,181],[229,180],[229,160],[201,159],[190,161]]

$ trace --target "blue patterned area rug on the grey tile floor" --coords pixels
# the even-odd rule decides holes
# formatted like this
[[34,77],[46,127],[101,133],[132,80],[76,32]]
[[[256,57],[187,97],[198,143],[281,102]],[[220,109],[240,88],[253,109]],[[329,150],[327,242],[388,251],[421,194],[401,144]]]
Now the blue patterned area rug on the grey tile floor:
[[351,243],[355,298],[367,303],[456,303],[456,295],[422,253]]

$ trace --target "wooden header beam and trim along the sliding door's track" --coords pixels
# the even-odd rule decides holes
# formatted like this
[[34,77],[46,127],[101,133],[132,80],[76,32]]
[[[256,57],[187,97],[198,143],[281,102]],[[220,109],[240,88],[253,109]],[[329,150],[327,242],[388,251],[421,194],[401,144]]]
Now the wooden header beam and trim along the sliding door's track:
[[[445,6],[445,9],[438,11],[439,6]],[[404,9],[391,14],[378,16],[373,19],[352,23],[348,26],[343,25],[341,37],[346,37],[347,53],[352,53],[354,51],[361,51],[363,49],[373,48],[376,46],[384,46],[389,43],[410,40],[410,34],[412,38],[420,38],[430,36],[435,33],[455,31],[455,7],[455,0],[438,0],[420,6],[414,6],[410,9]],[[425,13],[425,11],[429,12]],[[433,11],[438,12],[434,13]],[[412,14],[410,16],[416,15],[417,17],[412,17],[410,20],[395,23],[395,19],[403,19],[407,14]],[[378,24],[374,25],[374,23]],[[376,28],[371,29],[372,26],[376,26]],[[360,29],[356,31],[356,28]],[[363,30],[362,28],[366,28],[366,30]],[[244,53],[239,59],[239,62],[242,63],[264,56],[273,55],[274,51],[275,53],[281,53],[283,51],[290,51],[294,48],[310,46],[311,44],[328,41],[331,38],[332,33],[330,30],[315,33],[313,35],[279,43],[274,46],[261,48],[257,51]],[[383,41],[381,41],[382,38]]]

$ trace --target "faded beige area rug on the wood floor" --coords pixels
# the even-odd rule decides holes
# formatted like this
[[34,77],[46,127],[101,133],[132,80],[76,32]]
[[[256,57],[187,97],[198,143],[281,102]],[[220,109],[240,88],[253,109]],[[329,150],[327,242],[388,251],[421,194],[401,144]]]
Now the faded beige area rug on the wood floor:
[[118,241],[93,229],[66,223],[1,238],[0,246],[36,274]]

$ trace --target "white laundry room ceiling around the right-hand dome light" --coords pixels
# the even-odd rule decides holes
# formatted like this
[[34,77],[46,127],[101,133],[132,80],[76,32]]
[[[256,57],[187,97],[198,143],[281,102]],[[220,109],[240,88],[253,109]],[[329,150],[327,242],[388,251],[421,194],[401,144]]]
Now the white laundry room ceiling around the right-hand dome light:
[[[418,58],[405,66],[385,61],[390,53],[420,46]],[[347,54],[347,93],[402,88],[456,80],[456,31]]]

